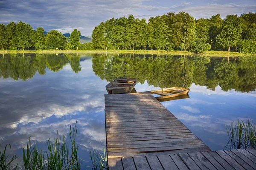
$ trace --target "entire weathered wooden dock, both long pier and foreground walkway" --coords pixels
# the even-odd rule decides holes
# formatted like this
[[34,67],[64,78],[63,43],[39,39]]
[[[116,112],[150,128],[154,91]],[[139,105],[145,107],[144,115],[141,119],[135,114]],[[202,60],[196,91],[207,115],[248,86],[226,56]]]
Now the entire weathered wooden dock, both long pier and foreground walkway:
[[211,151],[151,94],[105,95],[110,170],[256,170],[256,149]]

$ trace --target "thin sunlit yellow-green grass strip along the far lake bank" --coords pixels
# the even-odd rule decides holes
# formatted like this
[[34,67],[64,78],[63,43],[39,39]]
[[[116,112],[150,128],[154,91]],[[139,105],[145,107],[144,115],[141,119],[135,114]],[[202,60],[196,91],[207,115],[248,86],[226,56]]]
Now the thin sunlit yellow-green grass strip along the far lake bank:
[[[165,50],[1,50],[0,54],[15,54],[15,53],[38,53],[38,54],[55,54],[55,53],[116,53],[116,54],[177,54],[177,55],[190,55],[195,54],[190,51],[165,51]],[[239,52],[227,51],[206,51],[199,55],[207,57],[225,57],[225,56],[244,56],[256,54],[243,54]]]

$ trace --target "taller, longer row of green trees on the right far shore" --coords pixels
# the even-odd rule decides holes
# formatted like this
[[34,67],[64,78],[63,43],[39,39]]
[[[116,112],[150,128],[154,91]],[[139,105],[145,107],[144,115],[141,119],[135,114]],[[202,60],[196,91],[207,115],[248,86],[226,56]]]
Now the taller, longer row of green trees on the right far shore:
[[256,53],[256,13],[194,19],[186,12],[111,18],[92,33],[94,49],[207,50]]

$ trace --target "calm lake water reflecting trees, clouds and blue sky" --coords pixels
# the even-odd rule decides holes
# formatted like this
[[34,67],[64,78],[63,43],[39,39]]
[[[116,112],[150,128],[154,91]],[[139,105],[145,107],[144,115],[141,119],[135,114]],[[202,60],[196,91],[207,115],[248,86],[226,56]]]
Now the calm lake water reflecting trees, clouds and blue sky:
[[22,159],[28,138],[46,149],[78,119],[79,156],[105,146],[105,85],[137,77],[136,90],[182,86],[188,99],[162,102],[212,150],[228,141],[225,125],[256,122],[256,57],[113,54],[0,54],[0,141]]

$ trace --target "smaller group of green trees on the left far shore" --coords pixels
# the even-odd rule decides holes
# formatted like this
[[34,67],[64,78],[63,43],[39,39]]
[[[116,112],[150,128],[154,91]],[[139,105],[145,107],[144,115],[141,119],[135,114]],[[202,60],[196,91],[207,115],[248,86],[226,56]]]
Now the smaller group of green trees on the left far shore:
[[57,30],[44,34],[44,28],[38,27],[36,31],[26,23],[11,22],[0,24],[0,47],[2,50],[45,50],[45,49],[78,49],[84,47],[79,42],[80,31],[74,29],[67,38]]

